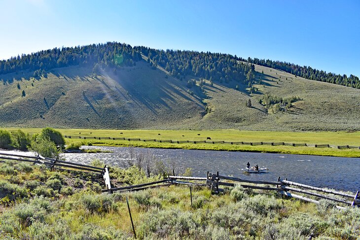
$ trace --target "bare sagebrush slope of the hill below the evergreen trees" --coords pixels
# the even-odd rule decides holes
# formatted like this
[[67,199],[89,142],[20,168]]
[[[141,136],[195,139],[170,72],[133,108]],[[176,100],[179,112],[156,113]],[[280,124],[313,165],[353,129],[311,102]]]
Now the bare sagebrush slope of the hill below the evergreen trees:
[[[210,80],[207,73],[170,74],[154,61],[142,55],[131,67],[79,65],[36,78],[31,69],[2,74],[0,126],[360,130],[360,89],[257,65],[250,81],[235,74]],[[249,72],[247,63],[238,65]],[[284,104],[265,104],[269,95]],[[297,98],[285,107],[291,97]],[[252,107],[246,106],[249,99]]]

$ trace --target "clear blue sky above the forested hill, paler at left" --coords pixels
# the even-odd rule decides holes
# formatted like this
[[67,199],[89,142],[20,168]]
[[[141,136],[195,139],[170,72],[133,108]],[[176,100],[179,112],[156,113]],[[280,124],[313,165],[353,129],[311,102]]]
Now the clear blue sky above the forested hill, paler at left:
[[360,0],[0,0],[0,59],[125,42],[360,76]]

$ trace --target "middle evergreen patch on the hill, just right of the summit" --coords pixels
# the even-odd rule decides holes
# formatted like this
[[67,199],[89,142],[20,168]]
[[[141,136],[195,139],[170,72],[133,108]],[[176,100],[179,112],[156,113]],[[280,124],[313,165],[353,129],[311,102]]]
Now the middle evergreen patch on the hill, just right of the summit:
[[144,46],[135,47],[148,57],[153,66],[161,66],[171,75],[182,79],[186,75],[228,83],[237,80],[244,84],[255,79],[253,64],[243,63],[236,55],[211,52],[158,50]]

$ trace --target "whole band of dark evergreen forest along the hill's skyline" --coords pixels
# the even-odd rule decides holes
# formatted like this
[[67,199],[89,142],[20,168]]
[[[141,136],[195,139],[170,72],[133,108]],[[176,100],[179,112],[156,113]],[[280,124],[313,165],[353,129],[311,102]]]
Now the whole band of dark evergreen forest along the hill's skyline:
[[[132,47],[129,44],[108,42],[86,46],[62,47],[42,50],[32,54],[22,54],[8,60],[0,61],[0,74],[33,70],[34,76],[44,75],[54,68],[70,66],[91,66],[98,69],[134,66],[142,59],[141,54],[148,57],[148,62],[155,69],[161,66],[173,76],[182,80],[186,75],[194,75],[210,81],[240,81],[252,84],[254,66],[257,64],[274,69],[281,69],[295,76],[306,79],[329,82],[360,89],[359,77],[349,77],[323,70],[301,67],[286,62],[248,58],[248,63],[236,55],[211,52],[157,50],[144,46]],[[98,64],[98,65],[97,65]]]

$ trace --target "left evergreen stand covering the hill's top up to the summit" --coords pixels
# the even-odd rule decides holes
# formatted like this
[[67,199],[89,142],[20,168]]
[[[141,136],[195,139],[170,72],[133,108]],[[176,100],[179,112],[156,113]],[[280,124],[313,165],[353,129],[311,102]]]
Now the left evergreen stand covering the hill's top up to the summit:
[[108,42],[87,46],[62,47],[22,54],[0,61],[0,74],[33,70],[43,74],[49,69],[69,66],[125,67],[136,65],[141,54],[125,43]]

